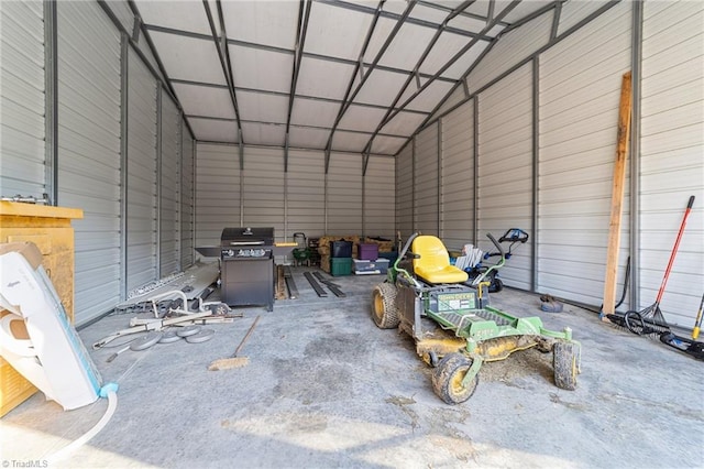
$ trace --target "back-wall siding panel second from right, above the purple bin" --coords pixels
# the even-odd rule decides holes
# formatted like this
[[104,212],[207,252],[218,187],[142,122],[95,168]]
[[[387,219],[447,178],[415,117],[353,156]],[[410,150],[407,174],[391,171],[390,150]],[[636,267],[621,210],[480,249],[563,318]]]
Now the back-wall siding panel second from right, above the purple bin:
[[362,155],[331,153],[327,184],[328,234],[362,234]]

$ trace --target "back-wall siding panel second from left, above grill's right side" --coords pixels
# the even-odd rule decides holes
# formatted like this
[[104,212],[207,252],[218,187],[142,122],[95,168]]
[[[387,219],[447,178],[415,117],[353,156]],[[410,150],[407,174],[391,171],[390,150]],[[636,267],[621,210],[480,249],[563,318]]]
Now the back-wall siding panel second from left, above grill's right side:
[[284,241],[284,150],[246,146],[244,149],[245,227],[274,227],[277,241]]

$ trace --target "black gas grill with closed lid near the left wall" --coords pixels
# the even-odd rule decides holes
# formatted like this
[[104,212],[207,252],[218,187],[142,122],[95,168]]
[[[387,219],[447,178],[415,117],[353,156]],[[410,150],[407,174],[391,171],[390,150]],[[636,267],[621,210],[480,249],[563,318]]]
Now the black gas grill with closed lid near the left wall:
[[220,237],[220,290],[230,306],[274,309],[274,228],[226,228]]

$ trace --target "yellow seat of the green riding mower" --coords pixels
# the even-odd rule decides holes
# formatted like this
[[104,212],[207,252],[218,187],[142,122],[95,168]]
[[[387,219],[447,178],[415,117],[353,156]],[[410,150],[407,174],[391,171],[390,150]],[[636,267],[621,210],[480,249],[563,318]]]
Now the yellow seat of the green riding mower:
[[450,265],[450,254],[444,244],[435,236],[419,236],[411,246],[414,272],[430,283],[462,283],[469,275],[461,269]]

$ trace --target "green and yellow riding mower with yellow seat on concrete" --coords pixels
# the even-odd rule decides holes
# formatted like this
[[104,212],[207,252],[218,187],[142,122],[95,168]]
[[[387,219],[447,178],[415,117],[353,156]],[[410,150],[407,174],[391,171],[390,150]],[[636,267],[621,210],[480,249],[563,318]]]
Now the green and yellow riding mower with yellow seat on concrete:
[[[505,262],[502,246],[487,233]],[[554,383],[574,390],[580,372],[580,343],[572,330],[548,330],[538,317],[518,318],[490,306],[488,282],[476,286],[466,272],[450,265],[442,241],[414,233],[387,279],[374,287],[372,318],[377,327],[400,330],[416,341],[416,351],[433,367],[432,388],[448,404],[469,400],[485,361],[504,360],[516,350],[552,351]]]

